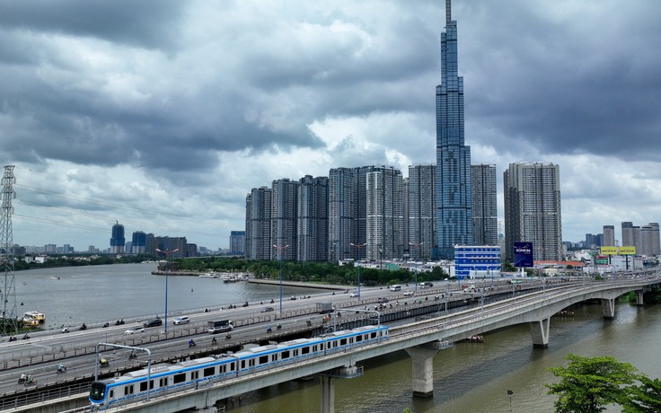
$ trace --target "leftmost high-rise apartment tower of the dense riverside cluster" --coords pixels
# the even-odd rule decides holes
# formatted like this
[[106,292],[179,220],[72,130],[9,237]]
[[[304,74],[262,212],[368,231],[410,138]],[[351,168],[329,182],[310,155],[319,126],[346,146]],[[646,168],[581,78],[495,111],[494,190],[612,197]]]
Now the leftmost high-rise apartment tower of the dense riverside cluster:
[[271,198],[267,187],[253,188],[245,199],[245,252],[248,259],[271,259]]

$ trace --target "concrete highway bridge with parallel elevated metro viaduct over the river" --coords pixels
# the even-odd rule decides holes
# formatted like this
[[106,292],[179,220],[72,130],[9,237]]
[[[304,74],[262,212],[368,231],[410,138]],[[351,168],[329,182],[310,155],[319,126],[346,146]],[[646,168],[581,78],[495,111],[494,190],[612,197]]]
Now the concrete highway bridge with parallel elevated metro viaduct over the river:
[[[541,278],[520,285],[504,282],[491,284],[485,280],[483,285],[478,285],[477,292],[472,294],[453,291],[449,285],[435,290],[418,290],[413,296],[405,296],[403,293],[408,292],[402,291],[386,297],[386,290],[364,290],[365,294],[359,300],[348,295],[329,297],[327,294],[315,297],[316,300],[311,298],[287,303],[282,317],[274,312],[260,312],[260,306],[255,309],[254,305],[250,312],[246,308],[230,312],[226,315],[231,316],[237,328],[232,332],[232,338],[218,337],[216,344],[212,344],[211,336],[204,332],[207,319],[218,317],[217,314],[209,313],[191,317],[195,321],[190,325],[168,329],[167,337],[163,337],[163,330],[157,328],[124,336],[123,331],[127,330],[127,326],[69,334],[45,333],[43,337],[29,340],[30,350],[25,350],[28,343],[21,341],[4,343],[0,347],[4,370],[0,383],[4,397],[0,409],[75,411],[76,408],[88,406],[86,393],[96,369],[95,347],[100,342],[149,347],[151,362],[159,363],[234,351],[247,343],[318,335],[330,329],[332,324],[339,324],[335,328],[344,329],[379,322],[388,325],[390,330],[389,339],[383,343],[352,347],[345,353],[322,356],[302,363],[272,366],[223,381],[199,382],[181,391],[169,392],[166,396],[153,395],[148,401],[140,400],[123,406],[121,411],[203,409],[214,405],[217,400],[319,374],[322,386],[320,411],[330,413],[333,411],[334,380],[361,374],[358,363],[362,360],[402,349],[412,359],[413,394],[429,397],[433,389],[433,356],[439,350],[452,346],[454,341],[489,330],[528,323],[533,346],[547,347],[551,337],[551,315],[574,303],[600,300],[604,317],[612,318],[615,298],[636,291],[639,303],[642,303],[643,292],[659,284],[661,277],[658,274],[639,274],[600,281],[582,278],[549,283],[547,278]],[[336,312],[331,321],[324,323],[321,316],[314,313],[314,303],[329,298],[333,298],[335,306],[340,308],[341,317],[337,317]],[[388,303],[383,303],[384,298],[389,300]],[[281,322],[283,329],[266,333],[265,325],[274,321]],[[311,325],[307,321],[311,321]],[[118,334],[121,334],[119,340]],[[198,340],[197,347],[189,348],[186,345],[190,336]],[[104,352],[103,355],[110,359],[110,367],[101,370],[101,373],[121,373],[145,365],[144,356],[132,360],[128,358],[127,351],[108,349]],[[69,366],[64,374],[55,373],[60,360],[66,360]],[[37,378],[34,388],[19,388],[16,385],[18,374],[26,370]],[[34,404],[37,400],[39,407]]]

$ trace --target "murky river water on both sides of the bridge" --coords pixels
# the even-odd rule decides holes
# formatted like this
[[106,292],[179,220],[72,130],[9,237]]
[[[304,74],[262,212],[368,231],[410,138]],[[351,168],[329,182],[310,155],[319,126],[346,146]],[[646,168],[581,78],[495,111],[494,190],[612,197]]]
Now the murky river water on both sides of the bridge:
[[[154,265],[48,268],[16,273],[20,311],[44,312],[48,324],[105,321],[163,314],[163,276],[152,276]],[[59,279],[57,279],[59,277]],[[22,282],[26,284],[22,284]],[[278,286],[224,284],[219,279],[169,277],[169,310],[183,311],[278,300]],[[193,291],[191,291],[191,289]],[[306,294],[284,287],[283,295]],[[24,308],[24,310],[23,310]],[[484,333],[483,343],[455,343],[434,359],[434,395],[411,396],[411,362],[405,352],[361,362],[365,375],[335,380],[337,413],[401,412],[553,412],[555,396],[546,382],[557,379],[548,367],[567,365],[568,353],[613,356],[652,378],[661,377],[661,306],[617,304],[615,318],[604,320],[601,305],[573,309],[571,317],[551,319],[549,347],[533,348],[527,325]],[[512,396],[507,391],[513,391]],[[295,413],[319,411],[317,381],[286,382],[232,400],[228,412]],[[617,407],[608,412],[619,412]]]

